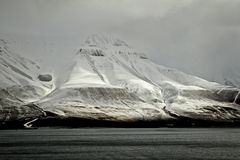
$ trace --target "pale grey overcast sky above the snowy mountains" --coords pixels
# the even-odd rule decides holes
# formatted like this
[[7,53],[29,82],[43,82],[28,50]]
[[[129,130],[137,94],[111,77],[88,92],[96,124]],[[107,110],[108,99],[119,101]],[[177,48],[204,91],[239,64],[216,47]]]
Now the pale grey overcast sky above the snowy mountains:
[[209,80],[240,71],[240,0],[0,0],[0,35],[68,44],[95,33]]

